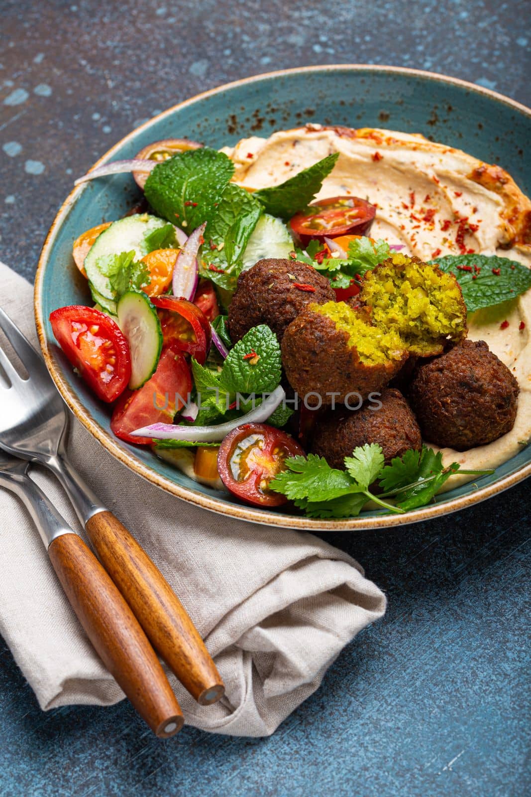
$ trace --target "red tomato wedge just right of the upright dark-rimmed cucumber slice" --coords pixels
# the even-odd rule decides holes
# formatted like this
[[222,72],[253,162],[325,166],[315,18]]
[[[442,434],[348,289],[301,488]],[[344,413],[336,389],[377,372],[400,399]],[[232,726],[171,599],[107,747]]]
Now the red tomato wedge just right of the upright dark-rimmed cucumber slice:
[[192,355],[201,365],[209,353],[212,332],[209,320],[195,304],[177,296],[154,296],[164,344]]

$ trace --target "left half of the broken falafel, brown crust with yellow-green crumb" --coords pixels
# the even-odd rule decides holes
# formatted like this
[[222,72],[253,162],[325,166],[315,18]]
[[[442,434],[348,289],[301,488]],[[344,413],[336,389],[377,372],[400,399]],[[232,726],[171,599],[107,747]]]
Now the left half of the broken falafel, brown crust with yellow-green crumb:
[[396,332],[367,320],[365,308],[345,302],[308,304],[283,336],[287,380],[307,406],[365,399],[400,371],[408,352]]

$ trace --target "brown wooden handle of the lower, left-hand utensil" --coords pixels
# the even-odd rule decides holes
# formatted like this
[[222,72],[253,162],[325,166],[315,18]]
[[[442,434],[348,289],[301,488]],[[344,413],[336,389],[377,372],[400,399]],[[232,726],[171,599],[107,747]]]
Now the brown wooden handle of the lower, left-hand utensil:
[[73,532],[48,548],[61,585],[103,664],[157,736],[184,724],[170,683],[131,609],[96,556]]

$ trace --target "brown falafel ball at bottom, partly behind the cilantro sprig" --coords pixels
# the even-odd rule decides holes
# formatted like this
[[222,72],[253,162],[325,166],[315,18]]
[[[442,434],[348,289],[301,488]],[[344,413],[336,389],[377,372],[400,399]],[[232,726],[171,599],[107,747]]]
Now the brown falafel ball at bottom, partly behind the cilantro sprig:
[[420,451],[420,428],[400,391],[385,388],[378,401],[379,408],[365,402],[359,410],[328,410],[315,425],[312,453],[324,457],[331,468],[345,469],[345,457],[365,443],[378,443],[387,463],[409,449]]

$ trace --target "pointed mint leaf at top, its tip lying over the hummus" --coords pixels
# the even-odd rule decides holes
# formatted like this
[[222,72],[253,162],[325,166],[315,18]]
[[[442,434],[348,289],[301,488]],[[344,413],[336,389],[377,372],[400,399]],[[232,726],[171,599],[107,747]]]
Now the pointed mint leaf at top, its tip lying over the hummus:
[[262,203],[266,213],[287,220],[315,198],[315,194],[321,190],[322,181],[330,175],[338,157],[338,152],[326,155],[326,158],[299,171],[298,175],[285,183],[272,188],[261,188],[252,195]]

